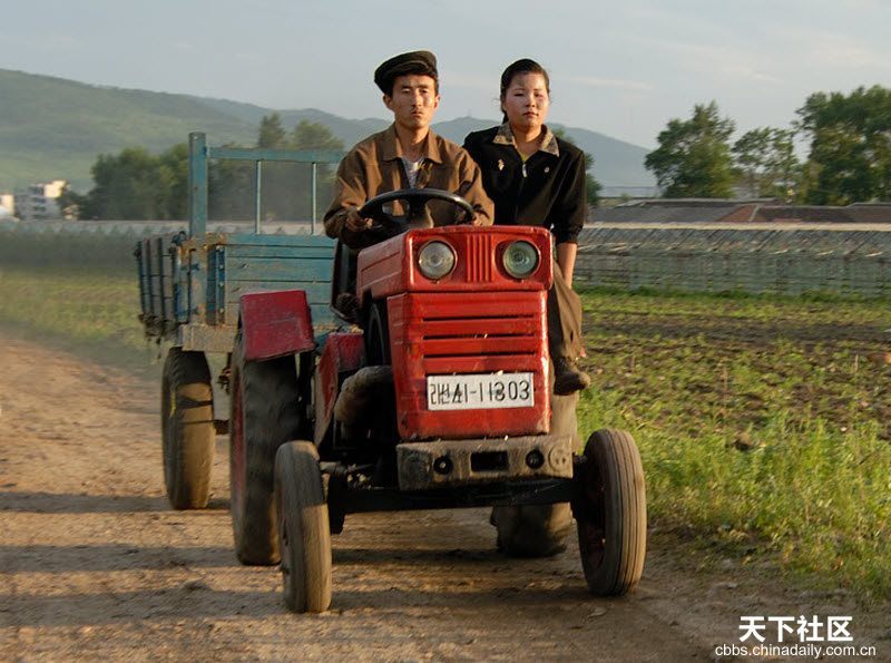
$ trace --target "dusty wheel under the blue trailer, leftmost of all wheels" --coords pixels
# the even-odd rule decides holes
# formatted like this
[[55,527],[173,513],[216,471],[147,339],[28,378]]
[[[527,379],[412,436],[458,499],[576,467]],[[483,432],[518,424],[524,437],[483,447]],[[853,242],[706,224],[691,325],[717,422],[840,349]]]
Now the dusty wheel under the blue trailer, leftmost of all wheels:
[[214,390],[203,352],[170,348],[160,386],[164,486],[175,509],[203,509],[214,465]]

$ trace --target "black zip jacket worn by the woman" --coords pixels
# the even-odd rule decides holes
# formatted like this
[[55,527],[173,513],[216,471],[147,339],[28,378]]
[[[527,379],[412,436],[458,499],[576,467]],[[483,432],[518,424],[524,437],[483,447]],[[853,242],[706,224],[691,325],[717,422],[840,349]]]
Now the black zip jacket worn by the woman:
[[546,130],[541,148],[525,164],[507,124],[469,134],[464,149],[482,170],[496,225],[539,225],[557,244],[576,244],[588,208],[585,155]]

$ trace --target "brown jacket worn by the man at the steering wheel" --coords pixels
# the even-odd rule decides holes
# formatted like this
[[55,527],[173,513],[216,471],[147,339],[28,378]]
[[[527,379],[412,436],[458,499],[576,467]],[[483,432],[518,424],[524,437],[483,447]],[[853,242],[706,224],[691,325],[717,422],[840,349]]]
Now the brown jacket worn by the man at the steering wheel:
[[[463,196],[476,209],[478,223],[491,225],[495,206],[482,188],[480,169],[470,155],[430,131],[424,157],[415,188],[441,188]],[[345,227],[347,209],[361,207],[379,194],[400,188],[410,188],[409,179],[402,166],[402,147],[396,140],[395,126],[390,125],[359,143],[343,157],[334,184],[334,202],[325,213],[325,232],[351,246],[368,244],[361,237],[362,233],[352,233]],[[435,225],[457,223],[461,216],[458,207],[443,201],[431,201],[428,208]],[[392,213],[403,214],[404,209],[396,202]]]

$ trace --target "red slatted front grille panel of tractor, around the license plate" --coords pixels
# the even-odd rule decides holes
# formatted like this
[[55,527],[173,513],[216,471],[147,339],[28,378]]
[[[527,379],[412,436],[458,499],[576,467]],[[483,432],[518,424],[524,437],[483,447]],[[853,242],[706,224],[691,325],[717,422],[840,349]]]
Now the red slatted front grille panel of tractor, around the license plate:
[[[389,302],[403,439],[547,432],[550,416],[544,291],[412,293]],[[428,409],[429,376],[531,373],[535,404]]]

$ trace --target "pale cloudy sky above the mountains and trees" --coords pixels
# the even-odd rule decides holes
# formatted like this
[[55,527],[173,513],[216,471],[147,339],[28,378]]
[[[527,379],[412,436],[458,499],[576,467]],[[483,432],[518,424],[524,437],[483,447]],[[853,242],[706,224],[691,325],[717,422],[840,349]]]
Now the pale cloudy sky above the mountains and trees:
[[550,72],[549,120],[657,145],[715,100],[738,134],[809,95],[891,87],[891,0],[0,0],[0,68],[386,118],[374,68],[429,49],[437,120],[497,119],[503,68]]

